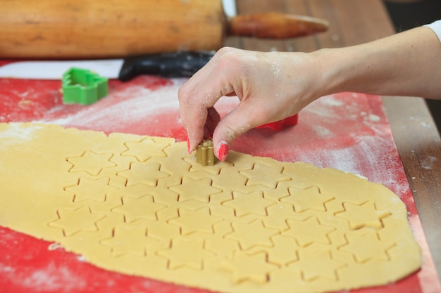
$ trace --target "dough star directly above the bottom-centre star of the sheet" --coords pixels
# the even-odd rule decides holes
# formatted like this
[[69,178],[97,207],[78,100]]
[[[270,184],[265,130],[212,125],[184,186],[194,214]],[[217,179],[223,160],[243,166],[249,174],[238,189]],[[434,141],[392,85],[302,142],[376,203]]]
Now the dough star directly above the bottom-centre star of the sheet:
[[261,220],[251,223],[231,223],[231,225],[234,231],[225,235],[225,238],[236,240],[244,250],[255,245],[273,247],[271,237],[279,233],[278,230],[263,226]]

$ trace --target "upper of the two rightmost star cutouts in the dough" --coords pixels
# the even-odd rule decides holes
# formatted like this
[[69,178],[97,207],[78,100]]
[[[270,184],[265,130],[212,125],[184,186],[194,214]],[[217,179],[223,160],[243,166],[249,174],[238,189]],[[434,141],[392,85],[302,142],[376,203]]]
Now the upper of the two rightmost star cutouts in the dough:
[[344,211],[335,214],[335,216],[345,219],[349,222],[349,227],[353,230],[362,227],[371,227],[375,229],[383,228],[382,219],[390,216],[389,211],[380,211],[375,209],[374,202],[365,202],[364,204],[343,203]]

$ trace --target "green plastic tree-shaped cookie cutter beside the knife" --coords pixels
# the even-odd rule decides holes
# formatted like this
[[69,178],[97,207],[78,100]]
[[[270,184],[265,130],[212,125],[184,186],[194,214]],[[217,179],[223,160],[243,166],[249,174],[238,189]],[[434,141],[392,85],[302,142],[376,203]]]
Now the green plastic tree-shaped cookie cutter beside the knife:
[[108,79],[90,70],[72,67],[62,79],[63,103],[90,105],[108,93]]

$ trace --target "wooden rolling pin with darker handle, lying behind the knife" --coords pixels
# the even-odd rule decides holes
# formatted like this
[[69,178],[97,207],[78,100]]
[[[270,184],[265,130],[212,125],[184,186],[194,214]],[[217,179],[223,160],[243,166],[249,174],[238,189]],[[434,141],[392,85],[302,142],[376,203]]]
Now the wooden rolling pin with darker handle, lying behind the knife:
[[0,0],[0,58],[217,50],[228,35],[280,39],[327,28],[280,13],[226,18],[221,0]]

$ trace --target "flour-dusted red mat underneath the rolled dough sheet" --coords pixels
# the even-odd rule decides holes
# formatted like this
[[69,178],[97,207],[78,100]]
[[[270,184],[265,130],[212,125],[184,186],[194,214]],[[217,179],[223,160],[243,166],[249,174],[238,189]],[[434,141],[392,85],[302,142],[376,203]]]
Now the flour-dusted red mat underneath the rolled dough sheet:
[[[0,122],[41,122],[187,139],[177,91],[184,79],[138,77],[109,82],[109,95],[89,106],[63,105],[60,82],[0,79]],[[225,114],[237,98],[216,107]],[[354,292],[440,292],[418,212],[378,96],[340,93],[323,97],[282,131],[253,129],[233,150],[287,162],[333,167],[383,183],[405,202],[423,251],[423,268],[393,285]],[[206,292],[104,271],[50,242],[0,227],[0,292]]]

